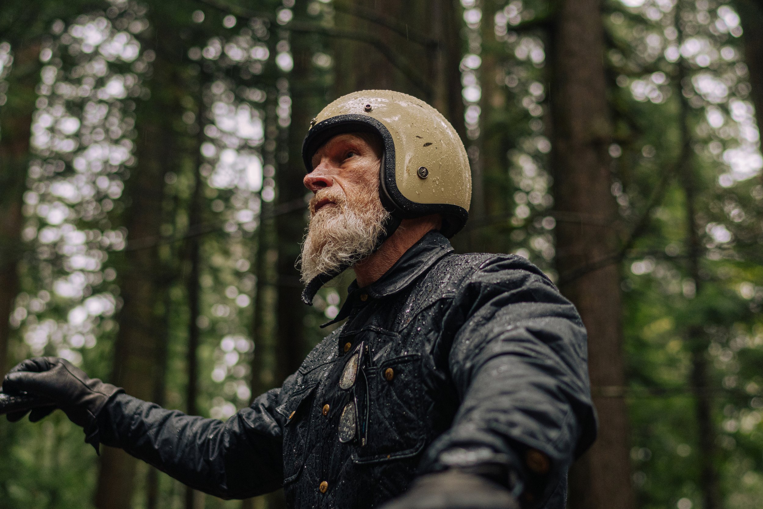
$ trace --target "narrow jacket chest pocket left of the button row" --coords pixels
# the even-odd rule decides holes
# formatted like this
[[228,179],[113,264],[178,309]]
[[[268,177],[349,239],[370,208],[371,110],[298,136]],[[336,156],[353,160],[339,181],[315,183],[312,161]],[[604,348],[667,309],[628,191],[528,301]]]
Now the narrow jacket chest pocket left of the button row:
[[310,434],[311,409],[317,383],[295,391],[288,401],[276,408],[286,418],[283,427],[284,484],[295,480],[304,466]]

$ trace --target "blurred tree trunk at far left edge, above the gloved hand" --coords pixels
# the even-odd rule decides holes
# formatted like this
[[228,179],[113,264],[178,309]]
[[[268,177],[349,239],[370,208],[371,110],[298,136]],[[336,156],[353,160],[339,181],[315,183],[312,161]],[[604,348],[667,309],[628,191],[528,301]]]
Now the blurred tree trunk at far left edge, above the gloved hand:
[[14,50],[8,82],[7,101],[0,107],[0,379],[8,366],[8,316],[18,294],[18,262],[21,260],[21,214],[29,163],[29,138],[40,78],[40,44]]

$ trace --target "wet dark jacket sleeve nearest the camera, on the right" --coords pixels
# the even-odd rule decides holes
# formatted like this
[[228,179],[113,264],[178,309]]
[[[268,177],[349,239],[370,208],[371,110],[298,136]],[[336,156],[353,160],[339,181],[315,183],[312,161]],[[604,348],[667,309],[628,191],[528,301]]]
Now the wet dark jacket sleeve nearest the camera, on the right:
[[596,436],[578,311],[531,263],[500,256],[462,285],[449,314],[460,405],[424,471],[497,463],[547,498]]

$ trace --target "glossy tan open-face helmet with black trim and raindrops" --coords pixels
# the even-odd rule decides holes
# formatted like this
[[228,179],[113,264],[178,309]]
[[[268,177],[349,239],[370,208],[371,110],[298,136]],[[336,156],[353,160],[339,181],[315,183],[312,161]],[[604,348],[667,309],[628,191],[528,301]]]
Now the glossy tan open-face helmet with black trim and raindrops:
[[[307,172],[312,157],[336,134],[372,132],[384,146],[379,195],[397,219],[443,215],[443,234],[452,237],[466,223],[472,172],[464,144],[449,121],[413,96],[390,90],[344,95],[320,111],[302,143]],[[386,236],[385,236],[386,237]]]

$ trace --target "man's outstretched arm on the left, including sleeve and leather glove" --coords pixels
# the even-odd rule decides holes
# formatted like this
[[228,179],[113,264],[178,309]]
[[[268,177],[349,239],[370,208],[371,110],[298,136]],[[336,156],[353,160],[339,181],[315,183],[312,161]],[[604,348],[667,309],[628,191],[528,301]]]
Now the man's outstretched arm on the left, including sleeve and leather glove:
[[[285,385],[291,382],[287,379]],[[91,379],[65,359],[39,357],[6,375],[3,391],[49,401],[31,411],[37,421],[60,408],[85,430],[85,441],[121,447],[179,481],[221,498],[248,498],[279,488],[282,416],[275,412],[281,389],[257,398],[227,422],[169,411]],[[19,420],[26,411],[8,414]]]

